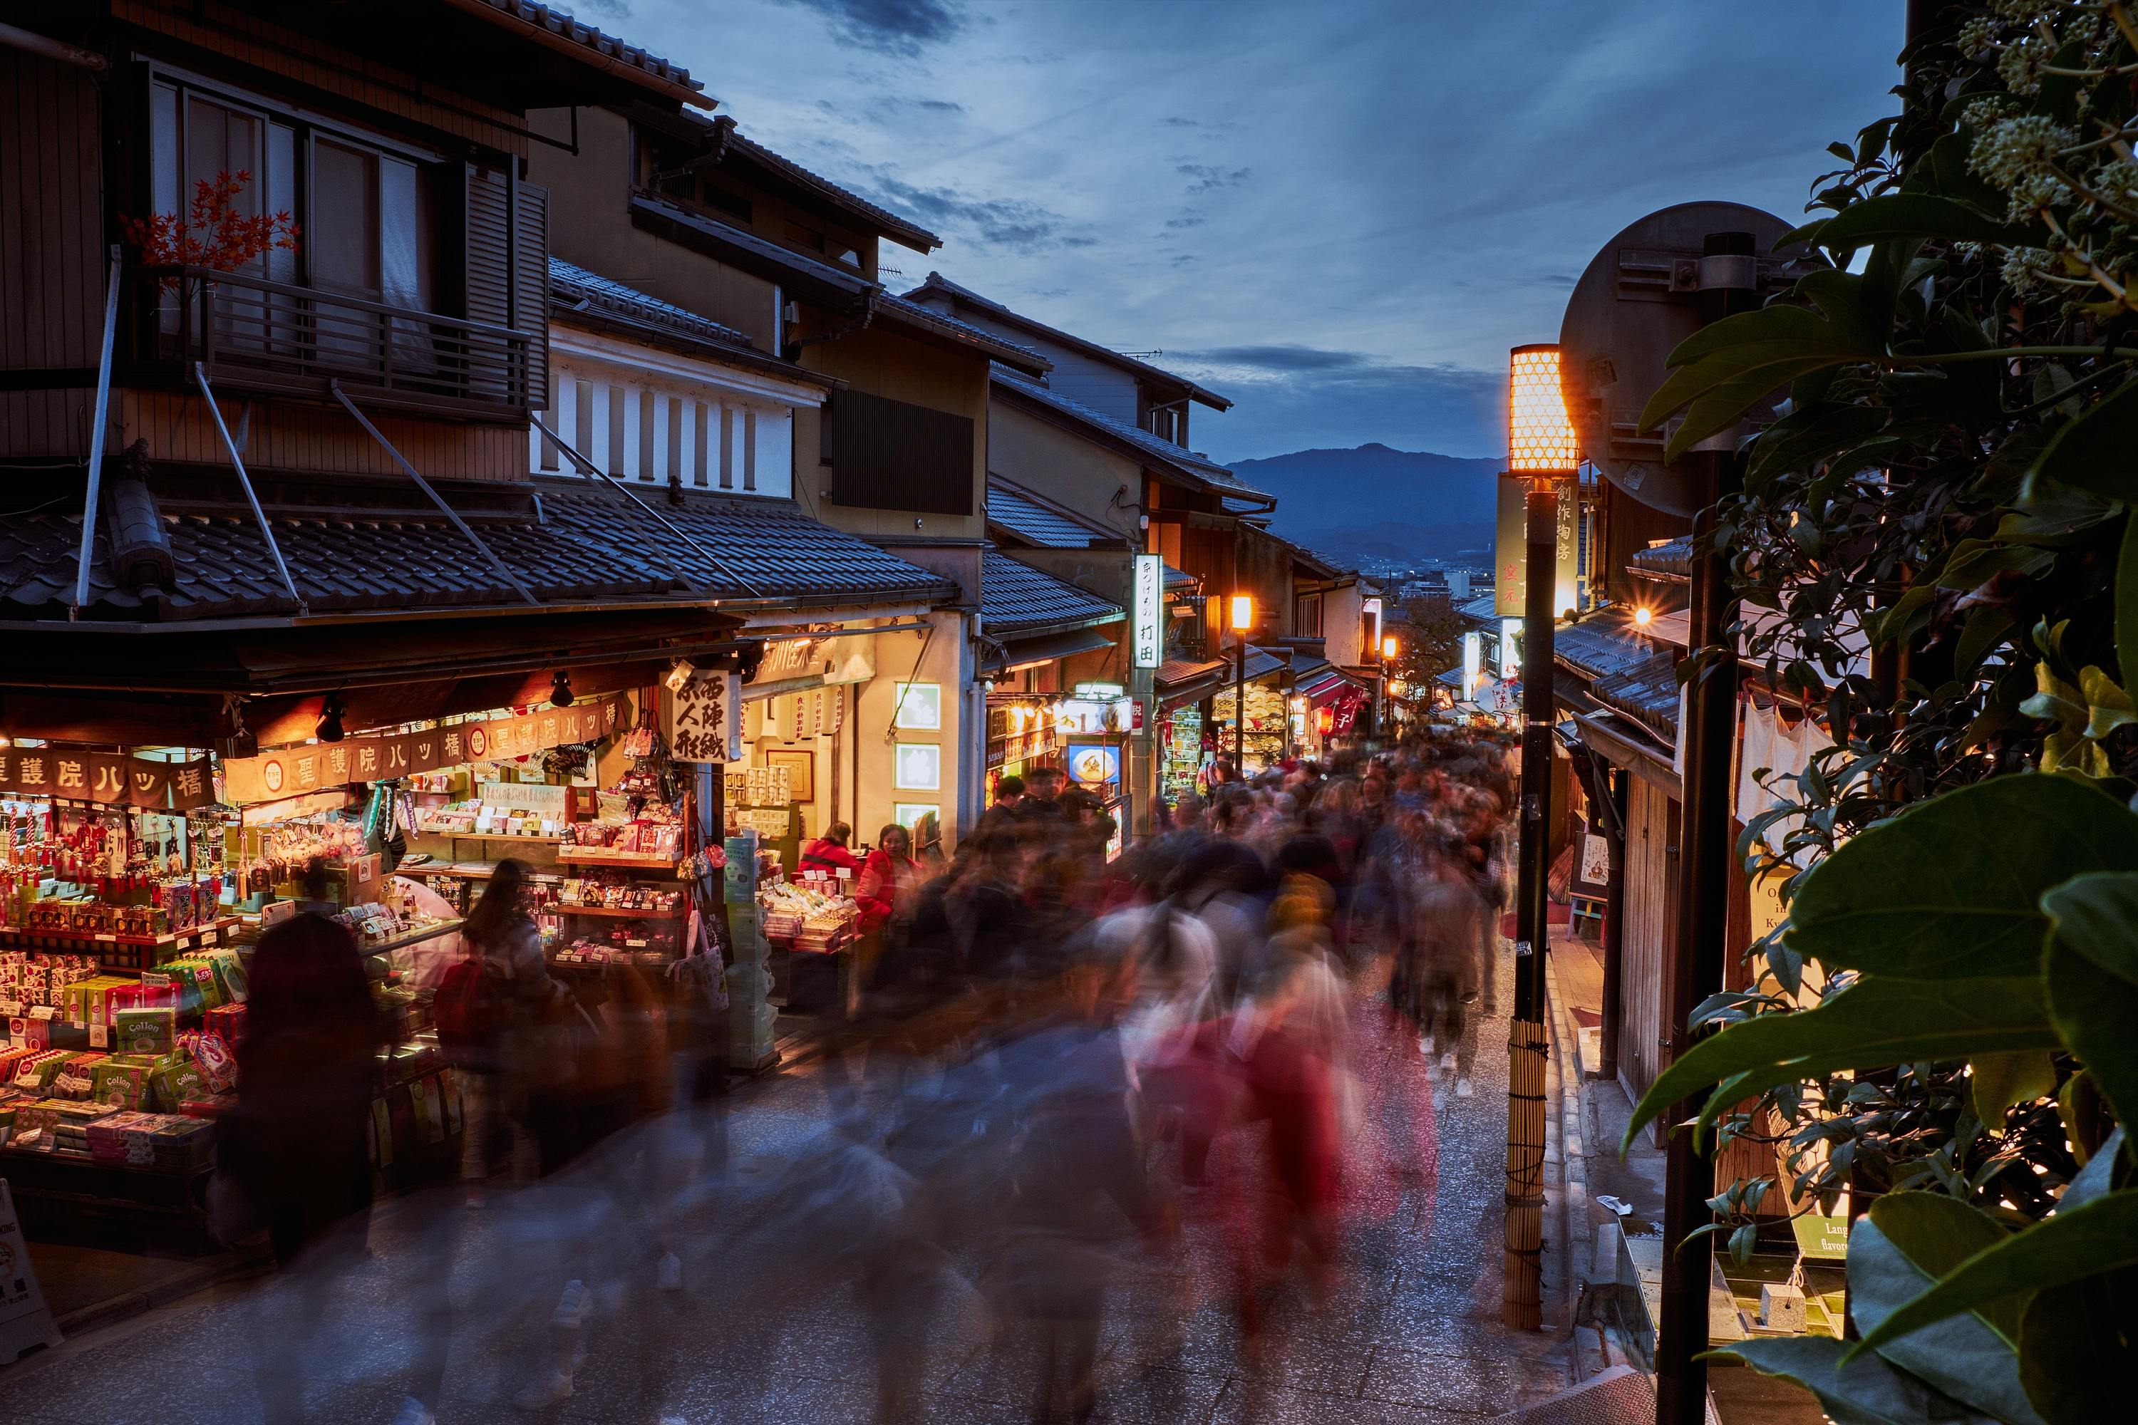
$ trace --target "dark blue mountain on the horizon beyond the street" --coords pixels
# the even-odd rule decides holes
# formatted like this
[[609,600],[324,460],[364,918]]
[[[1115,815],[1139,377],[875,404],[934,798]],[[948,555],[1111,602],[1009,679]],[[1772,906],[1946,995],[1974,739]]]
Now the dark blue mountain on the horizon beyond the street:
[[1490,549],[1499,468],[1497,459],[1379,442],[1231,461],[1234,474],[1276,496],[1270,528],[1351,560],[1445,560]]

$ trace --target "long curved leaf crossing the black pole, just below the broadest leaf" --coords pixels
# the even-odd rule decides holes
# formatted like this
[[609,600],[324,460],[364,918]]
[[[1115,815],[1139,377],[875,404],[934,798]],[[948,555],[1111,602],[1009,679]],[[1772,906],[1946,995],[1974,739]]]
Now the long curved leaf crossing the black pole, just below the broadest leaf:
[[1700,1124],[1779,1083],[1841,1068],[2057,1047],[2038,974],[1952,981],[1866,976],[1817,1008],[1760,1015],[1695,1043],[1642,1094],[1625,1143],[1631,1145],[1633,1134],[1670,1105],[1710,1085],[1723,1087],[1700,1109]]

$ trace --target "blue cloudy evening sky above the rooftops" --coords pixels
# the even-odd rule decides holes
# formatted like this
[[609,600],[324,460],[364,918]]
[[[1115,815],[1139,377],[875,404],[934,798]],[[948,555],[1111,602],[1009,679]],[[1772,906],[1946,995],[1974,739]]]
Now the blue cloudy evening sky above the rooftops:
[[[1633,218],[1794,218],[1886,113],[1901,0],[582,0],[885,248],[1231,395],[1221,459],[1503,449],[1507,346]],[[894,278],[896,282],[896,278]]]

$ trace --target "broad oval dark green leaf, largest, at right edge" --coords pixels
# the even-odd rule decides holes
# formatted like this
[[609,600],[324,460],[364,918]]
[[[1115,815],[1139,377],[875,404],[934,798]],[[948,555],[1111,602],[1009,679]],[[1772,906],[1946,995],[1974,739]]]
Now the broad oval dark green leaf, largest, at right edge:
[[2138,872],[2138,814],[2070,778],[2003,776],[1922,801],[1798,878],[1785,940],[1903,978],[2038,972],[2044,891]]

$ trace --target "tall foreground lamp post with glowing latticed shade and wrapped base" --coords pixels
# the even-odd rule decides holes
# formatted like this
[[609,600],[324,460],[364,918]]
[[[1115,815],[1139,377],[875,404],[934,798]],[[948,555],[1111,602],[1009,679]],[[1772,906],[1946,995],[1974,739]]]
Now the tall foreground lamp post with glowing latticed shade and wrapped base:
[[1509,361],[1507,472],[1529,485],[1522,568],[1522,799],[1514,902],[1514,1021],[1507,1025],[1507,1235],[1501,1322],[1544,1325],[1544,955],[1552,829],[1552,594],[1559,485],[1580,464],[1559,385],[1559,346],[1516,346]]

